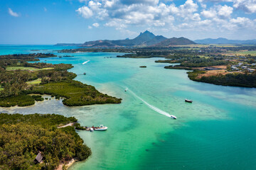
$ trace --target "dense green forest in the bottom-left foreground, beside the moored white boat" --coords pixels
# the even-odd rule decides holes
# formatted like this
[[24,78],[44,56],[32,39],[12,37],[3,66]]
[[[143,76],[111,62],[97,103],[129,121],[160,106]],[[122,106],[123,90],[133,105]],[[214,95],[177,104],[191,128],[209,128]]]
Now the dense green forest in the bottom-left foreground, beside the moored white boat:
[[[0,113],[0,169],[55,169],[73,157],[84,160],[91,150],[74,127],[57,128],[76,122],[63,115],[9,115]],[[43,163],[36,164],[41,152]]]

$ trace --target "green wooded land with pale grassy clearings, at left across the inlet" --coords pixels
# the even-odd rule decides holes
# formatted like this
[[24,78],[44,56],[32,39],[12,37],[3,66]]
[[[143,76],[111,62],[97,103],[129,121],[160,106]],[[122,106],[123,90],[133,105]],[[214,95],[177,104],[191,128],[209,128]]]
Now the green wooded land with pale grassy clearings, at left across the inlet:
[[47,64],[38,57],[56,57],[52,54],[0,56],[0,106],[31,106],[42,101],[38,94],[63,99],[66,106],[121,103],[121,98],[108,96],[94,86],[73,80],[77,75],[68,72],[71,64]]

